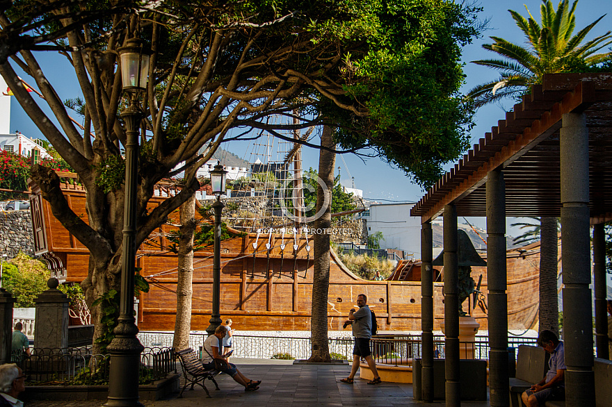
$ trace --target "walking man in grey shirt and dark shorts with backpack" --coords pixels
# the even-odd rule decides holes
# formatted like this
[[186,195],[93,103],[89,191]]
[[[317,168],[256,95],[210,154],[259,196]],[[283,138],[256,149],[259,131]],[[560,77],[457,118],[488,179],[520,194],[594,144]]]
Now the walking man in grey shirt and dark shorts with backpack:
[[348,325],[353,326],[353,336],[355,337],[355,347],[353,348],[353,367],[351,368],[351,374],[346,379],[341,379],[342,383],[353,384],[357,369],[359,369],[359,359],[365,358],[374,379],[369,381],[368,384],[379,384],[380,376],[378,376],[378,370],[376,369],[376,362],[372,358],[370,352],[370,338],[372,338],[372,312],[367,306],[368,298],[365,294],[359,294],[357,296],[357,306],[359,309],[351,308],[348,312],[348,319],[344,322],[344,328]]

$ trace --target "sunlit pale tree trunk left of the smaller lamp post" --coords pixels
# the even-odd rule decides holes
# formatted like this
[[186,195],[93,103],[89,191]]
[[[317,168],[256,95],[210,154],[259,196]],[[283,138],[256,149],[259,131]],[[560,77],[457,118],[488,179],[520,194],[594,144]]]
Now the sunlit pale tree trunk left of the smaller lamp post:
[[191,330],[191,296],[193,294],[193,233],[195,231],[195,194],[181,205],[179,226],[179,269],[177,276],[177,319],[172,347],[181,351],[189,347]]

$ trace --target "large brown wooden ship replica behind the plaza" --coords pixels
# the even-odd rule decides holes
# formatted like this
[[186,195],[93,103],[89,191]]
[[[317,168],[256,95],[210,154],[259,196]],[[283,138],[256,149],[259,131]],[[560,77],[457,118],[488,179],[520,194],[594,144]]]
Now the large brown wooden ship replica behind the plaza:
[[[88,270],[88,249],[52,215],[47,201],[33,190],[31,211],[36,254],[43,256],[60,279],[80,283]],[[63,192],[74,213],[83,214],[85,191],[66,183]],[[152,198],[159,204],[163,197]],[[172,331],[175,326],[177,255],[166,248],[172,229],[164,225],[138,250],[136,267],[150,283],[138,304],[140,330]],[[221,242],[220,313],[241,331],[299,331],[310,329],[314,251],[312,235],[248,233]],[[266,246],[266,244],[268,246]],[[281,245],[284,244],[284,250]],[[212,299],[212,247],[195,252],[193,260],[192,330],[209,325]],[[268,247],[270,249],[268,249]],[[538,322],[539,244],[508,251],[508,328],[530,329]],[[485,258],[486,260],[486,258]],[[386,281],[367,281],[353,274],[332,251],[328,299],[328,329],[342,330],[358,294],[367,294],[378,317],[379,331],[420,331],[421,265],[401,260]],[[434,329],[444,319],[444,270],[435,267]],[[480,307],[469,306],[472,316],[487,329],[486,267],[473,267],[480,286]],[[464,308],[465,309],[465,308]]]

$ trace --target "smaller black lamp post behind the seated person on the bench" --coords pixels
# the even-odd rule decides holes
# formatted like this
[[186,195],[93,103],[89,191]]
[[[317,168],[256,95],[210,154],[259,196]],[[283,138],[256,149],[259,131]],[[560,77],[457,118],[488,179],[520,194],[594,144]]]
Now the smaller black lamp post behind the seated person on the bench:
[[217,200],[212,205],[215,211],[215,244],[213,258],[213,312],[209,321],[210,325],[206,329],[209,335],[214,334],[217,326],[222,322],[219,310],[221,290],[221,210],[223,210],[225,205],[221,202],[221,194],[225,192],[225,174],[227,174],[227,171],[225,171],[223,165],[217,161],[217,165],[215,165],[214,169],[210,172],[211,186]]

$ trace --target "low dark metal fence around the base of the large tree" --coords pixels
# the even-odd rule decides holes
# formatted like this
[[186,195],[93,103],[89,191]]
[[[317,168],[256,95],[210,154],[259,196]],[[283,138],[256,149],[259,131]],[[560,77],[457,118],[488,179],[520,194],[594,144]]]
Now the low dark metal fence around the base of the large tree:
[[[92,354],[89,347],[33,348],[30,356],[13,352],[11,360],[22,368],[32,384],[108,384],[110,355]],[[163,379],[177,372],[172,348],[147,347],[140,354],[140,383]]]

